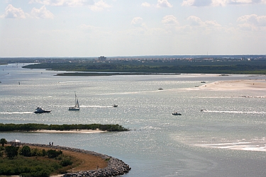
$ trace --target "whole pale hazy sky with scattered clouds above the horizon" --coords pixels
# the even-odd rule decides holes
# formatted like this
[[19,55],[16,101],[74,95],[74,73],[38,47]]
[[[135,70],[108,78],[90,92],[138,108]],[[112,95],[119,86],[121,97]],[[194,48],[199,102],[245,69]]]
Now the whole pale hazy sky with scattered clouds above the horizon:
[[266,0],[0,0],[0,57],[265,53]]

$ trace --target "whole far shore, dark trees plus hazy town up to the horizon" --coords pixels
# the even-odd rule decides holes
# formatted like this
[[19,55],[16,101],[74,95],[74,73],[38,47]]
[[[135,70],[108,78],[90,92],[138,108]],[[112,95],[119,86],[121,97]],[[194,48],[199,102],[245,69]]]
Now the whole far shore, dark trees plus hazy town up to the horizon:
[[79,76],[158,73],[266,74],[265,55],[104,57],[104,60],[100,57],[99,59],[50,58],[38,59],[35,62],[38,64],[31,64],[24,68],[72,71],[74,73],[57,75]]

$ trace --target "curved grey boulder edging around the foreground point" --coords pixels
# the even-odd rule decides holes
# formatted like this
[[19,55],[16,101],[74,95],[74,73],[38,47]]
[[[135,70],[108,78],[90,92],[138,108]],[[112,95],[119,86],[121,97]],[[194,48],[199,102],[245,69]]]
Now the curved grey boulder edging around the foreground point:
[[68,150],[72,152],[79,152],[84,154],[91,154],[94,156],[100,156],[102,159],[108,161],[108,166],[104,169],[97,169],[97,170],[91,170],[91,171],[79,171],[74,173],[65,173],[64,177],[82,177],[82,176],[120,176],[125,173],[128,173],[131,168],[125,164],[123,161],[113,158],[112,156],[108,156],[105,154],[99,154],[97,152],[87,151],[84,149],[77,149],[77,148],[70,148],[70,147],[61,147],[61,146],[50,146],[47,144],[29,144],[29,143],[21,143],[22,145],[27,146],[35,146],[35,147],[48,147],[52,149],[62,149],[62,150]]

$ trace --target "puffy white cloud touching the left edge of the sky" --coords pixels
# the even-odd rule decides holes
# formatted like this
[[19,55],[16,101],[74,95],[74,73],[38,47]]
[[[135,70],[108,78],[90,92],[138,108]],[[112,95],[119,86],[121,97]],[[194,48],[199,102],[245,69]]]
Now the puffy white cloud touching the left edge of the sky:
[[1,18],[26,18],[27,13],[24,13],[24,11],[21,8],[16,8],[9,4],[6,7],[6,12],[4,15],[1,16]]

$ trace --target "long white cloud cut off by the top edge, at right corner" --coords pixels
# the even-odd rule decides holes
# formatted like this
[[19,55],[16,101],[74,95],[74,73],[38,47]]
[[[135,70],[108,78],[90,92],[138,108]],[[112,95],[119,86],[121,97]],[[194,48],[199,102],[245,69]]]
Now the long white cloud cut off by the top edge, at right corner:
[[226,6],[229,4],[266,4],[266,0],[183,0],[182,6]]

